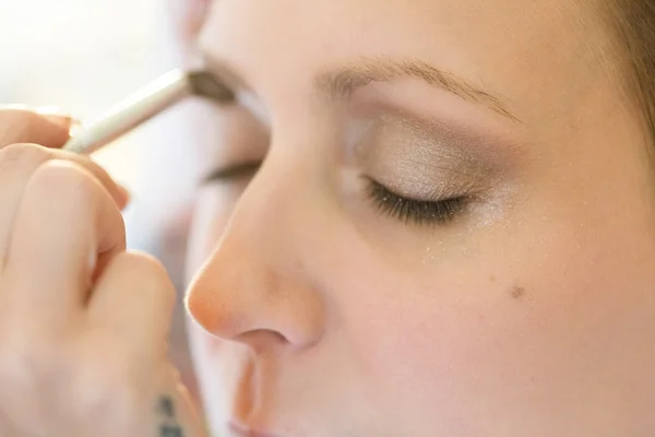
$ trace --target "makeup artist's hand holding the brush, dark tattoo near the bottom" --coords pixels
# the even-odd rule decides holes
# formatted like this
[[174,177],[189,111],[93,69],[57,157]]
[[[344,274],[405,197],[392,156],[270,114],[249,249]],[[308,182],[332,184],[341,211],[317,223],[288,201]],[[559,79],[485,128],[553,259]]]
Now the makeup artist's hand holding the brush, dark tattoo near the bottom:
[[166,361],[175,290],[126,251],[124,190],[58,150],[70,122],[0,109],[0,436],[203,436]]

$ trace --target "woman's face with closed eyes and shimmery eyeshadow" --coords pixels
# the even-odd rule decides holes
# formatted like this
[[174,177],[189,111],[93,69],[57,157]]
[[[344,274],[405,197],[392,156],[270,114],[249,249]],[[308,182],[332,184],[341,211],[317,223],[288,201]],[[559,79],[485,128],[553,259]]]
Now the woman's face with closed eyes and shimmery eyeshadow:
[[216,430],[655,428],[655,185],[596,9],[216,1],[240,103],[196,108],[188,296]]

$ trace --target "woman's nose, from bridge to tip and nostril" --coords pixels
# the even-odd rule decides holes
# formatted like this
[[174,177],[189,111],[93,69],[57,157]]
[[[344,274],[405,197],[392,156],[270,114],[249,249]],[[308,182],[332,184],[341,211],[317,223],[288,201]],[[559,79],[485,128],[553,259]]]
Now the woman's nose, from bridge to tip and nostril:
[[317,209],[311,188],[289,174],[260,169],[187,295],[202,328],[255,350],[306,349],[323,332],[322,286],[309,262]]

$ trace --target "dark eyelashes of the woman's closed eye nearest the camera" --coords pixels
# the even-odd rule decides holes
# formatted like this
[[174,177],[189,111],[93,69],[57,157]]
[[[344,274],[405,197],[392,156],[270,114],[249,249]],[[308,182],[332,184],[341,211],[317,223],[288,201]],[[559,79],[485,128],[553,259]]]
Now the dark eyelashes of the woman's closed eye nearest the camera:
[[466,206],[465,196],[436,201],[408,199],[373,179],[367,179],[368,197],[380,212],[405,223],[445,225],[463,213]]

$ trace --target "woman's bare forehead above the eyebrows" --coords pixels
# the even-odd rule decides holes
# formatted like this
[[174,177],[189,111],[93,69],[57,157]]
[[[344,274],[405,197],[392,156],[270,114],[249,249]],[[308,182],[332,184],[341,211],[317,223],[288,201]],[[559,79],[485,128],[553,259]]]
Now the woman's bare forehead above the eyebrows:
[[603,35],[594,15],[570,0],[219,0],[202,44],[259,94],[288,97],[356,58],[412,58],[505,96],[529,119],[529,102],[555,110],[591,86]]

